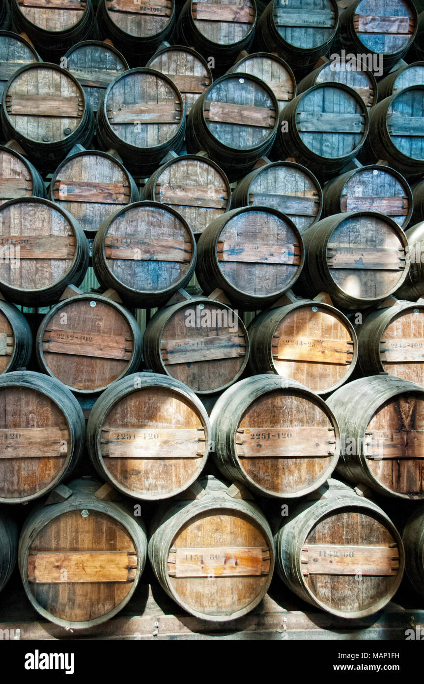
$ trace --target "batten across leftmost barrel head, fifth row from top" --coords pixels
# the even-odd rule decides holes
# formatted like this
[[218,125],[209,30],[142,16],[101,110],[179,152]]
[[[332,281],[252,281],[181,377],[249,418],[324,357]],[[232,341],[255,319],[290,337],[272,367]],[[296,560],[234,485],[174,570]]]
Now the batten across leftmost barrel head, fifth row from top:
[[72,235],[3,235],[0,248],[19,248],[20,259],[72,259],[76,241]]

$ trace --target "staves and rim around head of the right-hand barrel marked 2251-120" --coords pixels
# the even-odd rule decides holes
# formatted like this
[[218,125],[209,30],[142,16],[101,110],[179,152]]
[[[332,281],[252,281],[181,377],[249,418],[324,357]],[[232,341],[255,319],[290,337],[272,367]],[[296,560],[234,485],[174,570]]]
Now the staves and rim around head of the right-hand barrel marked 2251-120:
[[[326,471],[313,484],[295,492],[286,491],[281,493],[259,486],[240,466],[234,443],[238,424],[247,408],[264,394],[279,389],[292,390],[299,397],[311,399],[311,401],[315,402],[315,405],[320,406],[324,410],[335,428],[336,449]],[[249,401],[246,401],[246,399]],[[255,495],[265,497],[266,499],[291,500],[311,494],[311,492],[322,486],[328,477],[331,477],[331,473],[336,468],[339,459],[339,425],[334,413],[332,410],[328,410],[328,408],[324,399],[300,384],[300,382],[297,382],[297,380],[292,380],[292,378],[282,378],[270,373],[262,373],[244,378],[244,380],[240,380],[232,385],[219,396],[210,413],[212,442],[214,443],[214,463],[218,470],[221,471],[223,477],[231,482],[242,482]]]

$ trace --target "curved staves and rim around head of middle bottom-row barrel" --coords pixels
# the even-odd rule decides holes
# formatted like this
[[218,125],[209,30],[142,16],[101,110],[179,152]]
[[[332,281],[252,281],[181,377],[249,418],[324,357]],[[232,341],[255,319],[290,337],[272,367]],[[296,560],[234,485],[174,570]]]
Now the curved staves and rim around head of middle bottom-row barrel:
[[[236,618],[249,613],[260,601],[262,601],[262,598],[268,590],[274,570],[272,532],[268,525],[268,521],[266,521],[264,514],[259,510],[257,505],[253,503],[253,501],[244,501],[242,498],[233,498],[231,495],[228,495],[227,490],[229,487],[227,484],[221,482],[221,480],[212,475],[207,475],[206,477],[201,477],[201,479],[197,480],[197,483],[206,491],[206,495],[203,495],[200,499],[195,501],[175,500],[168,505],[162,505],[158,508],[150,526],[148,547],[149,560],[160,586],[175,603],[180,605],[180,607],[203,620],[208,620],[210,622],[229,622],[230,620],[235,620]],[[268,573],[270,579],[267,585],[264,587],[264,590],[258,594],[255,601],[244,609],[231,615],[210,616],[186,607],[184,602],[179,600],[178,595],[173,592],[169,581],[167,581],[167,558],[173,538],[191,518],[212,510],[216,510],[217,512],[229,510],[229,512],[240,512],[251,516],[252,520],[257,523],[257,525],[260,525],[261,530],[264,532],[264,537],[268,541],[268,548],[270,549],[270,570]]]

